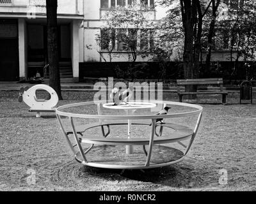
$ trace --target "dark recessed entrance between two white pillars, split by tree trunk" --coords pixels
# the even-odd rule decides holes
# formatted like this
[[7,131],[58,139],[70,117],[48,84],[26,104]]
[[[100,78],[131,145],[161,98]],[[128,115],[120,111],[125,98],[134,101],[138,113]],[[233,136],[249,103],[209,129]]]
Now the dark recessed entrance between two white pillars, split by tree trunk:
[[[72,77],[70,25],[58,25],[58,49],[61,77],[67,74],[67,71],[68,76]],[[48,64],[47,26],[28,24],[28,78],[34,77],[37,71],[43,77],[46,64]],[[44,77],[47,78],[47,74]]]

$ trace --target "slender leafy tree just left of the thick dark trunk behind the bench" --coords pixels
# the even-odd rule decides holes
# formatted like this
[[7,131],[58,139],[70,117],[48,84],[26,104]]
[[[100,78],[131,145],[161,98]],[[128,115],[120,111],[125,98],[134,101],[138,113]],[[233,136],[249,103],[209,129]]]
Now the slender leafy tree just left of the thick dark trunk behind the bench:
[[[156,6],[171,7],[168,2],[163,1],[159,1]],[[159,78],[165,82],[170,61],[182,61],[184,33],[179,4],[172,5],[172,8],[166,11],[166,17],[152,22],[152,27],[154,27],[152,60],[159,62]]]

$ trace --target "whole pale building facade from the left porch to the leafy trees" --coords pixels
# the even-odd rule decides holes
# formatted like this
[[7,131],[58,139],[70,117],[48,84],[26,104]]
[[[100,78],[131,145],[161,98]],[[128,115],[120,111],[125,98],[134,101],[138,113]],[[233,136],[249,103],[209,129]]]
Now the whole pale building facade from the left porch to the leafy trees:
[[[115,6],[134,2],[154,5],[153,0],[58,0],[62,79],[77,82],[79,63],[102,61],[95,41],[104,23],[102,16]],[[0,0],[0,82],[27,80],[37,71],[44,75],[47,64],[45,4],[45,0]],[[150,20],[156,20],[154,8],[148,13]],[[120,54],[121,57],[113,61],[126,61],[125,52]]]

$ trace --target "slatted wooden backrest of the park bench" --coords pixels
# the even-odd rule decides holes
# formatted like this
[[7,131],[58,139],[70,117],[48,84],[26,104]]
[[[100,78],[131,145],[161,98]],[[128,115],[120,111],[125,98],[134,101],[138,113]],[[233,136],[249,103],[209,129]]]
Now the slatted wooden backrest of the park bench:
[[179,91],[180,85],[206,85],[206,84],[220,85],[220,91],[223,91],[223,78],[193,78],[193,79],[177,80],[178,91]]

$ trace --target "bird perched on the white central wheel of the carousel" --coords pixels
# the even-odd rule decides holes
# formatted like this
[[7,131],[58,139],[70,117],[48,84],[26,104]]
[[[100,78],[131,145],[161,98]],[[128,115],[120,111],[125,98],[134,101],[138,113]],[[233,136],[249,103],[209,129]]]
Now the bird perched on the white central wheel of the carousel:
[[131,98],[133,92],[133,86],[129,86],[125,91],[120,91],[118,88],[114,88],[111,91],[110,98],[113,99],[114,106],[127,105],[127,101]]

